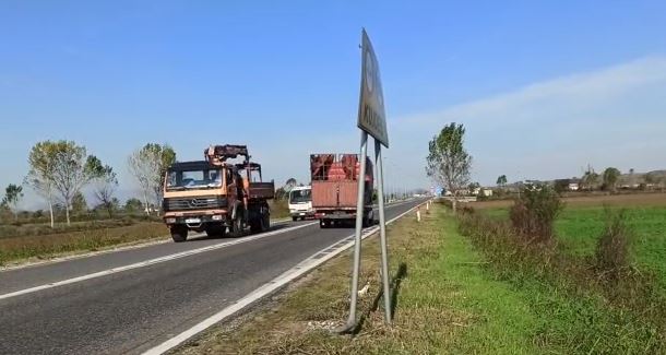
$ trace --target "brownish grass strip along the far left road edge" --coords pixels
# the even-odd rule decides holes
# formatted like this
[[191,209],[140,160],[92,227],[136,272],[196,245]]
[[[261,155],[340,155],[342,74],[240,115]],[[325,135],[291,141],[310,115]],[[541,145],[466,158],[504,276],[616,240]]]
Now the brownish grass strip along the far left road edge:
[[163,223],[91,228],[48,235],[0,238],[0,265],[29,259],[48,259],[79,251],[96,251],[110,246],[145,241],[168,235]]

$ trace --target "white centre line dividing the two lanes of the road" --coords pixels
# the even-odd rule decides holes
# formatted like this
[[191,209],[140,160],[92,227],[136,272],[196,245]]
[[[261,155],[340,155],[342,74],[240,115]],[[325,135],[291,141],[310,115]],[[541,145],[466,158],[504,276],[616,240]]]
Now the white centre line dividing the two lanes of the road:
[[316,224],[319,224],[319,222],[312,222],[312,223],[301,224],[298,226],[288,227],[288,228],[284,228],[284,229],[266,232],[266,233],[258,234],[254,236],[249,236],[249,237],[235,239],[235,240],[230,240],[230,241],[224,241],[224,242],[215,244],[215,245],[203,247],[203,248],[181,251],[181,252],[177,252],[177,253],[173,253],[173,255],[168,255],[168,256],[164,256],[164,257],[159,257],[159,258],[155,258],[155,259],[136,262],[136,263],[124,265],[124,267],[117,267],[117,268],[95,272],[92,274],[86,274],[86,275],[72,277],[72,279],[68,279],[68,280],[62,280],[62,281],[58,281],[58,282],[53,282],[53,283],[49,283],[49,284],[45,284],[45,285],[31,287],[31,288],[25,288],[25,289],[12,292],[9,294],[0,295],[0,300],[25,295],[25,294],[35,293],[35,292],[43,291],[43,289],[53,288],[53,287],[63,286],[63,285],[70,285],[70,284],[82,282],[85,280],[102,277],[102,276],[106,276],[106,275],[110,275],[110,274],[115,274],[115,273],[119,273],[119,272],[123,272],[123,271],[128,271],[128,270],[132,270],[132,269],[145,268],[145,267],[153,265],[153,264],[160,263],[160,262],[166,262],[166,261],[170,261],[170,260],[175,260],[175,259],[190,257],[193,255],[198,255],[198,253],[202,253],[202,252],[206,252],[206,251],[211,251],[211,250],[222,249],[222,248],[235,246],[238,244],[243,244],[243,242],[274,236],[277,234],[288,233],[288,232],[292,232],[295,229],[308,227],[308,226],[316,225]]

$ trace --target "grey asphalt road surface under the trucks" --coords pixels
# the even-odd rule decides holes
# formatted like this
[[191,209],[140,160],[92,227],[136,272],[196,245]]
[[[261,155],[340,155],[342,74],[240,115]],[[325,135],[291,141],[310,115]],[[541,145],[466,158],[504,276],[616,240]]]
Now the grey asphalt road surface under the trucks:
[[[386,218],[418,202],[386,208]],[[142,353],[354,233],[307,224],[289,222],[263,238],[9,298],[1,297],[242,238],[198,238],[0,272],[0,354]]]

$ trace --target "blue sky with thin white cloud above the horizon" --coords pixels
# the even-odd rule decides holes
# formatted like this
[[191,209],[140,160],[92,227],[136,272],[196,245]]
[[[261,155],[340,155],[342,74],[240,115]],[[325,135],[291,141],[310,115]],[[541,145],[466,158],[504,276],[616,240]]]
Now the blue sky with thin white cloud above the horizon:
[[111,164],[122,198],[146,142],[180,159],[247,143],[266,176],[306,180],[309,153],[356,151],[361,26],[382,70],[390,186],[430,185],[427,141],[449,121],[467,127],[481,184],[666,168],[664,1],[8,0],[0,186],[46,139]]

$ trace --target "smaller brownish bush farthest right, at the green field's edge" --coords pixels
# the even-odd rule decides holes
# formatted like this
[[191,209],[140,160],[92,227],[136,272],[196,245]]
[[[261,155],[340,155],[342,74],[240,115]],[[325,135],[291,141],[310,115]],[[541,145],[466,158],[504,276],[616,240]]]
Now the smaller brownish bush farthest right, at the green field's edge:
[[627,212],[606,209],[606,228],[596,246],[596,268],[617,279],[630,265],[631,230],[627,226]]

